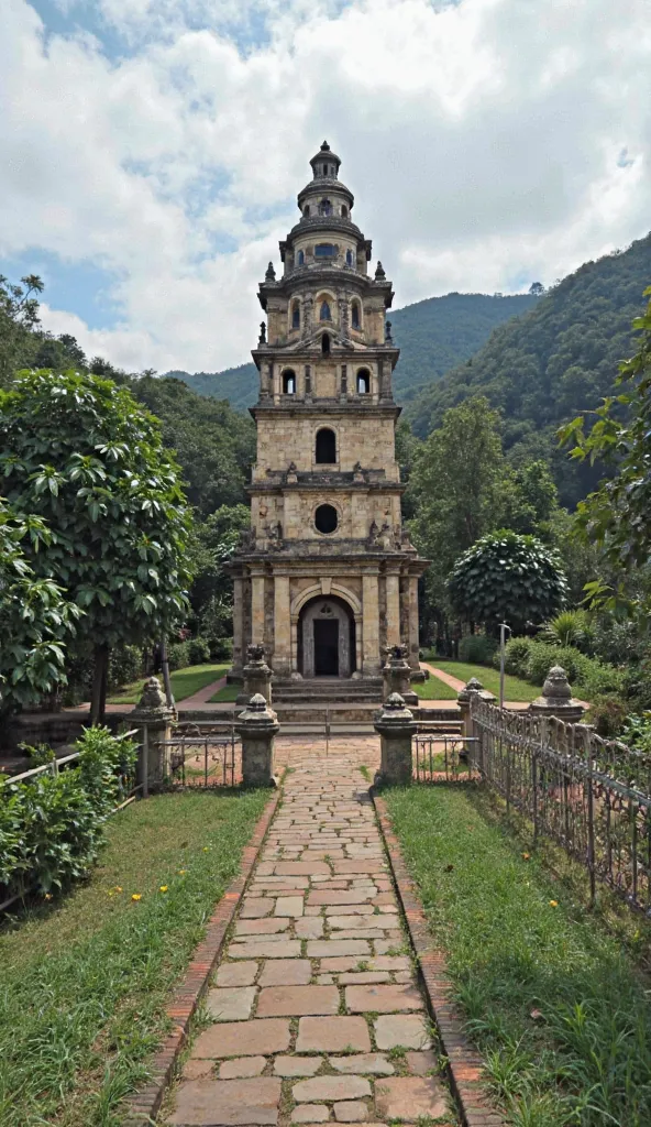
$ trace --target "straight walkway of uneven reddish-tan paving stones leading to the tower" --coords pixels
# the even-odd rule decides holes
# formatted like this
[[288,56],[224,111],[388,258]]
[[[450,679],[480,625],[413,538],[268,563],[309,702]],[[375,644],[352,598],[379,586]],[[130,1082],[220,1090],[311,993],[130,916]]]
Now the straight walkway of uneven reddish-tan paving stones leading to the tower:
[[457,1121],[368,783],[336,752],[292,756],[168,1124]]

